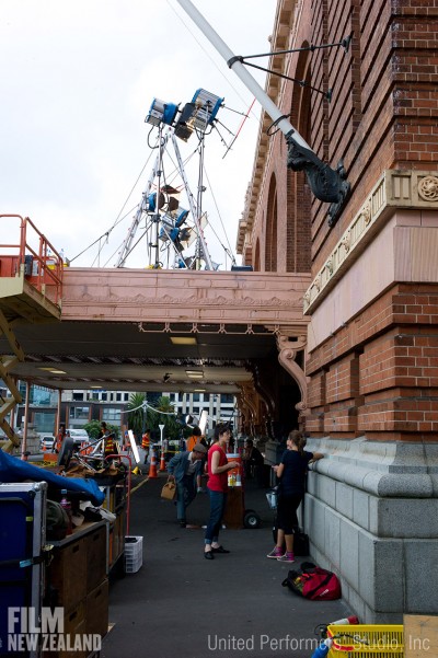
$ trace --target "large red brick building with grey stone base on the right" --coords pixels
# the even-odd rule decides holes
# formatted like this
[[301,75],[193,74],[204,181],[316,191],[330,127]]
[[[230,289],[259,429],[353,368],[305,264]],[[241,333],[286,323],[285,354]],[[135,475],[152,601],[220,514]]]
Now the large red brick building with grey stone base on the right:
[[278,0],[272,50],[299,50],[266,92],[350,192],[319,200],[265,114],[238,235],[255,270],[311,274],[300,419],[331,457],[307,529],[366,622],[438,613],[437,32],[438,0]]

